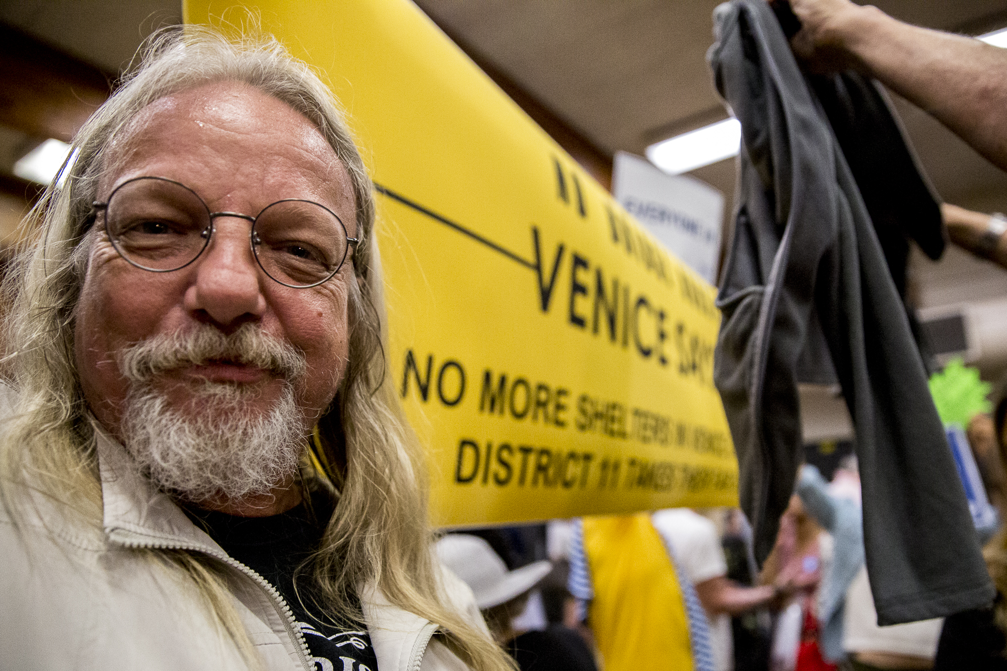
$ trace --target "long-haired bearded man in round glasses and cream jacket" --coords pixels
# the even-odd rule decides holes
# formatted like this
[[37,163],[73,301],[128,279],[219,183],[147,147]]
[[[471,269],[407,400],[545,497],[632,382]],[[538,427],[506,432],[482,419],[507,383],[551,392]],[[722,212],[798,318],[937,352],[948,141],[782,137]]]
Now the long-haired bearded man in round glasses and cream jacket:
[[4,668],[507,668],[430,548],[370,180],[271,39],[163,36],[8,279]]

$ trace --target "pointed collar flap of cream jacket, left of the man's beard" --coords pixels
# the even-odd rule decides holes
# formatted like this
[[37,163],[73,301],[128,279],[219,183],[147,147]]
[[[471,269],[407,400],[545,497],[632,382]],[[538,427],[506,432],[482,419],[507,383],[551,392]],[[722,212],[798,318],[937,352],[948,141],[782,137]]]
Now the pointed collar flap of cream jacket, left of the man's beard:
[[114,543],[130,547],[185,547],[224,554],[168,495],[158,491],[140,473],[126,448],[97,421],[93,423],[106,536]]

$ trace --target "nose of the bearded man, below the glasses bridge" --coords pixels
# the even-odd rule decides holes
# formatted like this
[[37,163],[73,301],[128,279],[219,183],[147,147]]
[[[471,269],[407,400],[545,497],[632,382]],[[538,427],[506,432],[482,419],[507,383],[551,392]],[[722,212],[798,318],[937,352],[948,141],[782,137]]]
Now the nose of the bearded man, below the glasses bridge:
[[263,273],[249,245],[251,226],[238,218],[218,218],[209,245],[195,262],[195,281],[185,291],[186,309],[204,313],[225,328],[266,311]]

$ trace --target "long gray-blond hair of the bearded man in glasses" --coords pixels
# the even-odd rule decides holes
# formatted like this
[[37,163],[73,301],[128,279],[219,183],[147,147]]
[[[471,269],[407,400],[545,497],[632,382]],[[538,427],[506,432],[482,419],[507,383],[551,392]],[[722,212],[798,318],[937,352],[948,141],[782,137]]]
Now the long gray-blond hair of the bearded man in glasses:
[[[241,82],[285,102],[314,123],[352,183],[363,239],[350,282],[349,364],[315,432],[316,456],[338,493],[312,570],[330,618],[359,618],[354,588],[377,584],[396,606],[439,624],[447,644],[478,671],[510,668],[507,657],[448,603],[430,551],[423,450],[385,374],[382,278],[371,180],[331,93],[305,63],[268,36],[228,38],[199,27],[156,36],[142,62],[85,124],[63,166],[28,218],[33,226],[4,283],[4,374],[17,407],[0,436],[3,502],[17,522],[26,485],[101,526],[94,431],[76,370],[75,306],[87,273],[91,204],[117,133],[150,103],[215,81]],[[7,485],[13,485],[9,487]],[[195,580],[215,622],[255,665],[247,635],[211,562],[186,552],[152,559]],[[157,555],[157,556],[153,556]]]

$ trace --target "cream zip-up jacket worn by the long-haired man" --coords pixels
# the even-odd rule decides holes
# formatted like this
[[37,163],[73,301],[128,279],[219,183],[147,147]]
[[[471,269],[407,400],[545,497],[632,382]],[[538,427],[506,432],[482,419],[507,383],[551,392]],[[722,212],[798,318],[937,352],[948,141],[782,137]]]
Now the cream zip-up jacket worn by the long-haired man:
[[[235,608],[264,669],[358,671],[316,663],[279,592],[229,557],[101,431],[98,455],[102,528],[37,494],[29,495],[34,512],[19,527],[0,506],[0,668],[248,668],[192,581],[159,566],[159,552],[184,548],[226,567]],[[456,608],[485,631],[471,590],[446,569],[444,582]],[[434,636],[437,625],[391,605],[374,585],[359,596],[377,671],[466,671]]]

